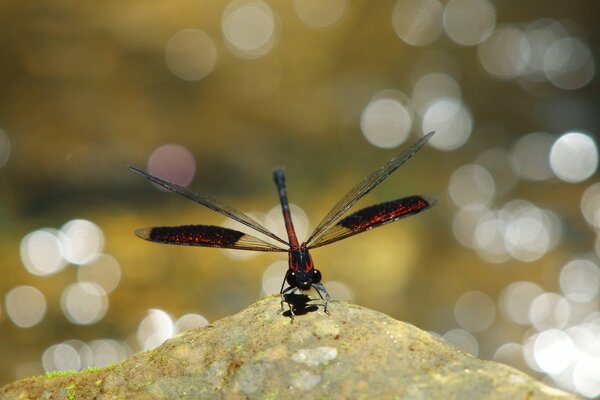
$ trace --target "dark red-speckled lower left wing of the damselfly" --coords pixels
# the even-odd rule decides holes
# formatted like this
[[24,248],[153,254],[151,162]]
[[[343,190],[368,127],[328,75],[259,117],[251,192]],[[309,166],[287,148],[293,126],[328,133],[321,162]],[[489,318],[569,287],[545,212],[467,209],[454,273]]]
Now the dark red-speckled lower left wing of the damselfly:
[[252,235],[209,225],[162,226],[141,228],[135,234],[151,242],[179,246],[219,247],[254,251],[287,251]]

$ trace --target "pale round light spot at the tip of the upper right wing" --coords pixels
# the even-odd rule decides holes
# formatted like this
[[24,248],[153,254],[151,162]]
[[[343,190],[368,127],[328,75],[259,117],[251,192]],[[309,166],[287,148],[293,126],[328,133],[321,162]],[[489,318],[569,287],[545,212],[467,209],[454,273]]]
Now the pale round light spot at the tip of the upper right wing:
[[435,131],[429,144],[451,151],[463,146],[471,136],[473,117],[458,99],[442,97],[430,104],[423,115],[423,134]]

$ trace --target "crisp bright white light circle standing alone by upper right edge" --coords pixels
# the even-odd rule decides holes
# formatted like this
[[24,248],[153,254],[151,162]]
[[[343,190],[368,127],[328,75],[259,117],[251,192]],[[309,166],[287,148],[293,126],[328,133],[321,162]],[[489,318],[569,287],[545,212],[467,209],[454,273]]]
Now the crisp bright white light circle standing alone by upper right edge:
[[583,133],[565,133],[552,145],[550,167],[563,181],[576,183],[586,180],[598,169],[596,143]]

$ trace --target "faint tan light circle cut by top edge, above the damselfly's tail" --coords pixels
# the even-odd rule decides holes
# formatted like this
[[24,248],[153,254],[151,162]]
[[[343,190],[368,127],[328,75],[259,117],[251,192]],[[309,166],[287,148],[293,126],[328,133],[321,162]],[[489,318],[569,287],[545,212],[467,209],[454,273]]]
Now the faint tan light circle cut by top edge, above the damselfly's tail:
[[331,29],[343,17],[347,0],[293,0],[298,17],[314,29]]

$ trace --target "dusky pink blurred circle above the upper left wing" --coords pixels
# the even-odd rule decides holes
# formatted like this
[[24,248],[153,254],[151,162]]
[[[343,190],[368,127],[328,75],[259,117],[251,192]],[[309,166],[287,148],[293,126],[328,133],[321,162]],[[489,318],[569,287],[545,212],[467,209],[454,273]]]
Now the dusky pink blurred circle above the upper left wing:
[[150,156],[148,172],[180,186],[187,186],[196,174],[196,160],[185,147],[165,144]]

